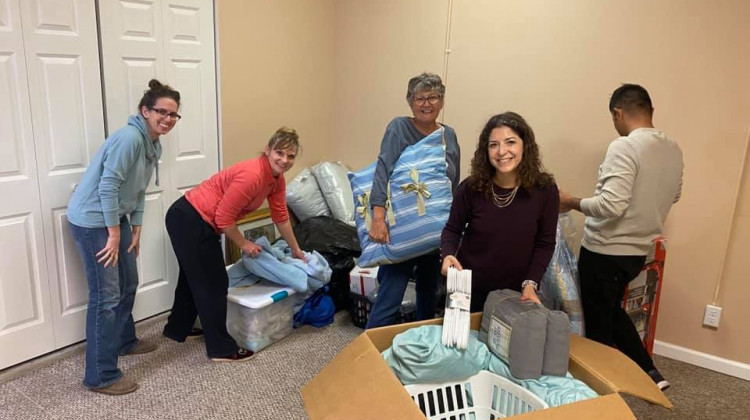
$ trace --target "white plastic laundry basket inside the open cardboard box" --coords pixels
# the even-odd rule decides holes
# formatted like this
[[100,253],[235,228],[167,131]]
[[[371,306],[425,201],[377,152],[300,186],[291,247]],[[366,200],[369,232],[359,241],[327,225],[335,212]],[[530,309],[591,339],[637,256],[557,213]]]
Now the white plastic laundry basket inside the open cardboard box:
[[405,388],[429,420],[491,420],[548,407],[531,391],[486,370],[459,382]]

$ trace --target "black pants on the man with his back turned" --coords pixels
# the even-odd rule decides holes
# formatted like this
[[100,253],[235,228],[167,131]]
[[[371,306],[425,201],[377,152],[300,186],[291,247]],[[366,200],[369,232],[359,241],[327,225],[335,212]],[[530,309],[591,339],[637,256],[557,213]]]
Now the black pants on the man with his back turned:
[[654,369],[654,361],[622,308],[625,286],[638,276],[645,262],[645,256],[604,255],[581,247],[578,272],[586,337],[616,346],[648,372]]

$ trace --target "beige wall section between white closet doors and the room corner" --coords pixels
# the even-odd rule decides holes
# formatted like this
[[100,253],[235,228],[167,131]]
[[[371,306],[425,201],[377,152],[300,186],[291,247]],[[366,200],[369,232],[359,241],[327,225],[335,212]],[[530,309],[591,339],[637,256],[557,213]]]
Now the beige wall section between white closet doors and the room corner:
[[334,1],[216,4],[223,166],[256,156],[287,125],[303,149],[289,180],[331,147]]

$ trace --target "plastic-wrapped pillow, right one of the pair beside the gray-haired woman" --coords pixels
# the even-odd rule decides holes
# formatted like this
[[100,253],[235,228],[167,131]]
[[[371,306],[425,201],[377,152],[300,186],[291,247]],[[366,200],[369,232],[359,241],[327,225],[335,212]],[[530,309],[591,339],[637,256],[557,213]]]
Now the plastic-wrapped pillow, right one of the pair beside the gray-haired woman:
[[310,168],[334,219],[354,224],[352,187],[341,162],[321,162]]

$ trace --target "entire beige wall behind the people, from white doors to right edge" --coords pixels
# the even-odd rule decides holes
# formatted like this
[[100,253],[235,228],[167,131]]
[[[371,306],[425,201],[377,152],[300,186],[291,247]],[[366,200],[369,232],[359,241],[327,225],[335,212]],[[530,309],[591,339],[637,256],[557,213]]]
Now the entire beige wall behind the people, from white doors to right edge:
[[[721,327],[701,326],[724,260],[748,140],[750,3],[337,0],[315,7],[236,2],[222,11],[224,3],[219,1],[225,162],[258,149],[236,142],[265,139],[292,118],[311,133],[304,143],[308,162],[325,156],[363,167],[375,159],[387,122],[408,115],[408,78],[427,70],[446,76],[443,117],[458,133],[464,176],[482,124],[494,113],[515,110],[537,131],[559,185],[587,195],[616,135],[609,94],[621,82],[646,86],[657,127],[681,144],[686,165],[683,199],[667,223],[657,339],[750,363],[750,305],[744,302],[750,295],[744,280],[750,272],[750,182],[742,184],[731,225],[718,302],[724,307]],[[288,33],[269,37],[258,24]],[[230,34],[239,39],[226,41]],[[260,35],[263,42],[254,42]],[[279,67],[303,62],[319,69],[293,82],[302,105],[280,100],[289,95],[277,94],[288,83],[278,69],[259,69],[270,57]],[[296,106],[293,112],[290,106]]]

